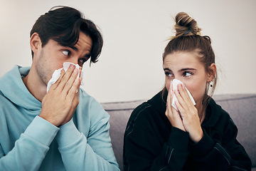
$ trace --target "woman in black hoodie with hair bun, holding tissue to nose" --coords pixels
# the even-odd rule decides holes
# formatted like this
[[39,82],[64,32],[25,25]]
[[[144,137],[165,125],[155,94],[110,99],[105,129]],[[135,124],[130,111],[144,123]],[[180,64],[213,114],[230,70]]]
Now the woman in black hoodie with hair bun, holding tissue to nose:
[[[175,28],[163,54],[164,90],[139,105],[127,123],[124,170],[251,170],[236,140],[238,128],[211,98],[217,69],[210,37],[201,36],[196,21],[183,12]],[[177,90],[174,78],[182,82]]]

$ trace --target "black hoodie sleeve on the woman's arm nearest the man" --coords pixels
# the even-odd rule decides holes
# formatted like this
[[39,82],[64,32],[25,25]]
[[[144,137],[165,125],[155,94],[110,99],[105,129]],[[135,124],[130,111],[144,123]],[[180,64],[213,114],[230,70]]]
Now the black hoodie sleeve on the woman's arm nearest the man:
[[161,142],[155,123],[147,118],[148,108],[142,105],[135,110],[127,125],[124,170],[182,170],[188,156],[188,133],[171,128],[167,141]]

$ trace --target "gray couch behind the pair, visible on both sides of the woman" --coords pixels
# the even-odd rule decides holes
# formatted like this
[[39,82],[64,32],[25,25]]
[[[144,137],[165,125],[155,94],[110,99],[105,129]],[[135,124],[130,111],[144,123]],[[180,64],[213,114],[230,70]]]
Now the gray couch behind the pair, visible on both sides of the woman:
[[[238,126],[238,140],[252,160],[252,170],[256,170],[256,94],[215,95],[213,99],[230,113]],[[144,101],[102,103],[110,114],[110,137],[120,170],[123,169],[122,150],[127,121],[132,110]]]

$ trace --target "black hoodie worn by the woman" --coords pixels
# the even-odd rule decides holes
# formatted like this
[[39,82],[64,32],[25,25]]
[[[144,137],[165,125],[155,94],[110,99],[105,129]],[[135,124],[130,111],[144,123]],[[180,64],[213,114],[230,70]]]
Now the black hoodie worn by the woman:
[[250,157],[236,140],[238,128],[213,99],[201,124],[203,138],[195,144],[187,132],[171,126],[161,94],[139,105],[129,118],[124,170],[251,170]]

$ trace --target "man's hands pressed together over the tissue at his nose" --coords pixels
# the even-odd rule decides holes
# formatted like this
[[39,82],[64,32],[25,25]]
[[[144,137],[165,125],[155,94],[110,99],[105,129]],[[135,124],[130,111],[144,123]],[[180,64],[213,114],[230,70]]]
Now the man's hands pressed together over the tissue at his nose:
[[61,71],[60,78],[54,83],[42,101],[40,117],[55,126],[68,123],[73,117],[79,103],[79,89],[82,78],[77,78],[80,70],[70,65],[65,72]]

